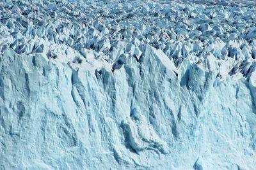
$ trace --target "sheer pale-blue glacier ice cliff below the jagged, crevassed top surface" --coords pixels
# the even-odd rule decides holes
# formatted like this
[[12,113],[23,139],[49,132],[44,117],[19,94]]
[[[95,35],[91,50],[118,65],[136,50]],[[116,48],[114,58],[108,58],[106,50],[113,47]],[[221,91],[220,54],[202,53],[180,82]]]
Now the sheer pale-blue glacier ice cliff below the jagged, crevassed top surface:
[[[180,80],[147,46],[113,73],[40,55],[1,57],[2,169],[253,169],[247,81],[187,62]],[[194,166],[195,167],[195,166]]]

